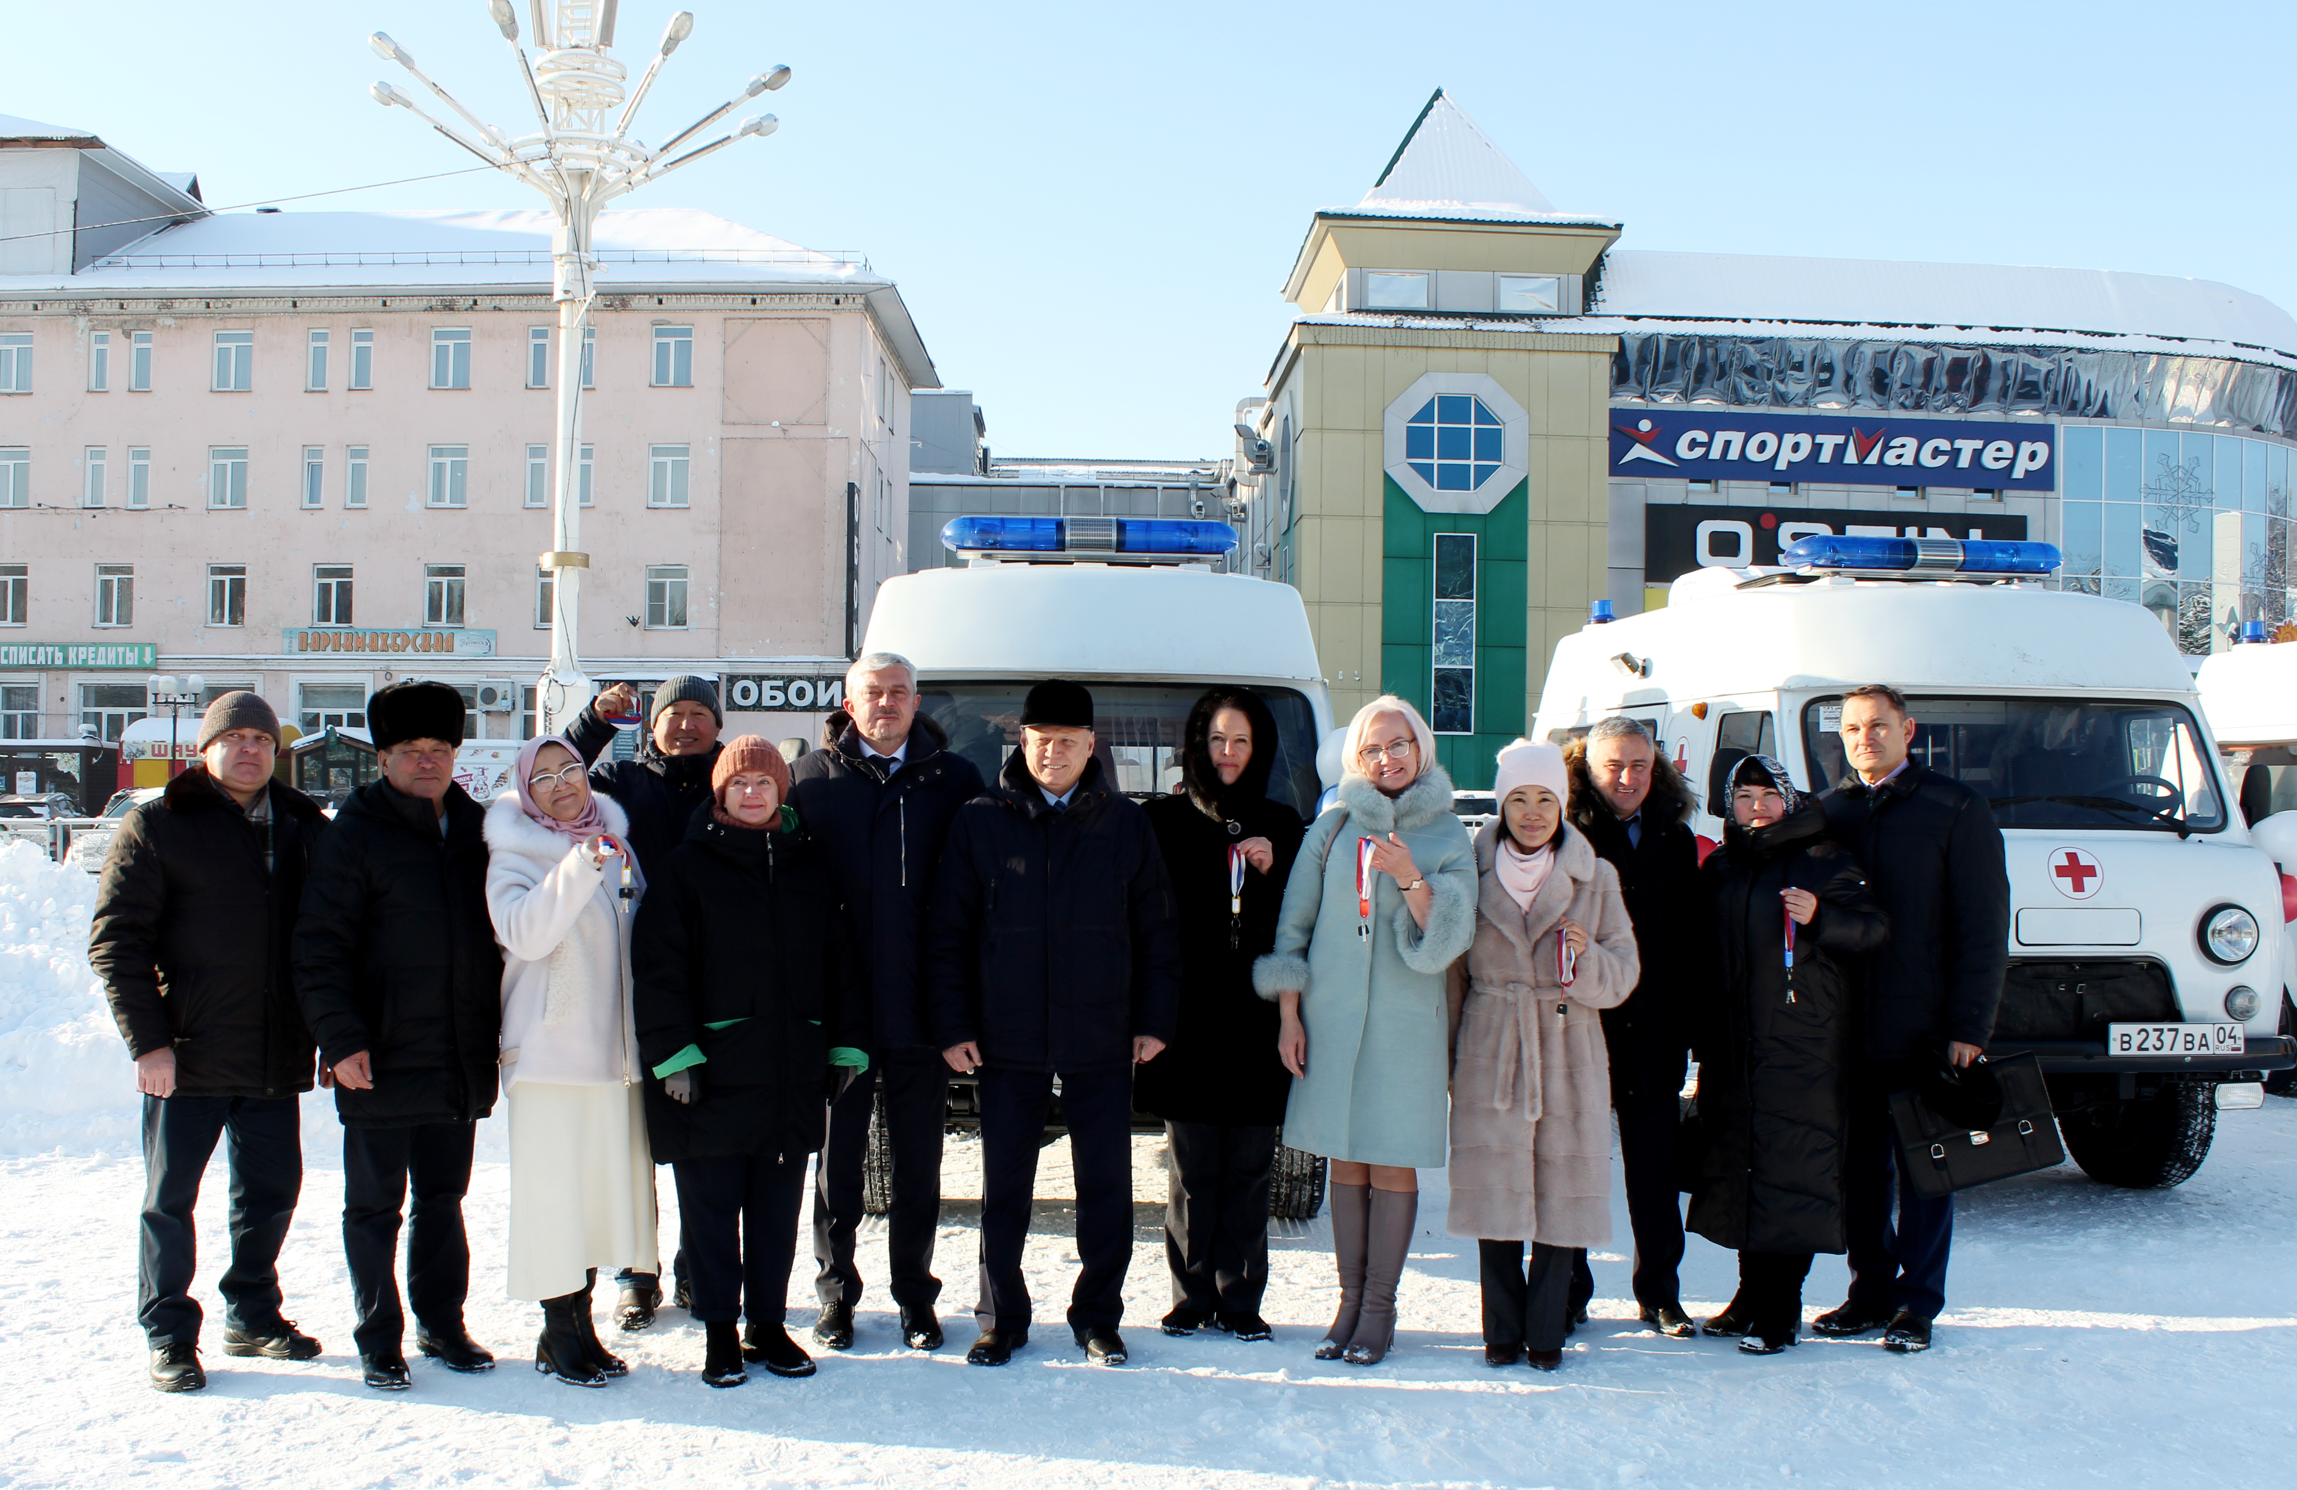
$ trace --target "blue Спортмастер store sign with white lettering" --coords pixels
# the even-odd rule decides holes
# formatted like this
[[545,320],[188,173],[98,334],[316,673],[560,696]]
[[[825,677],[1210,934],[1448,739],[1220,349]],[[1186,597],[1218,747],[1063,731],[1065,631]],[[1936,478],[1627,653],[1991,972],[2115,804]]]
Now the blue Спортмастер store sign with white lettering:
[[1833,482],[2054,491],[2058,427],[1817,418],[1743,409],[1612,409],[1610,473],[1702,482]]

